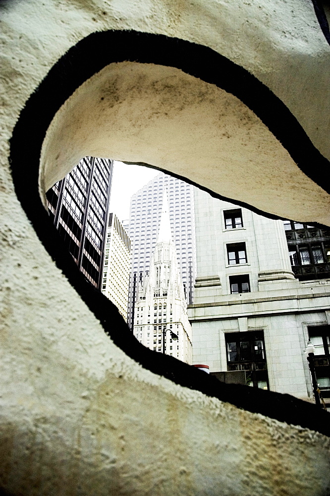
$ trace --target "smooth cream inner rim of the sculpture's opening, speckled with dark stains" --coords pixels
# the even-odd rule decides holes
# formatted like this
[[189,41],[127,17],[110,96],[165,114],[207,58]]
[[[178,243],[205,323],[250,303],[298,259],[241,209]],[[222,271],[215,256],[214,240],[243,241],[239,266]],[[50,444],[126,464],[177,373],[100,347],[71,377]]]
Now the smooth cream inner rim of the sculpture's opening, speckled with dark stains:
[[330,223],[329,195],[250,109],[173,67],[114,63],[79,87],[48,129],[41,185],[49,189],[86,155],[152,164],[282,217],[315,220],[318,209]]

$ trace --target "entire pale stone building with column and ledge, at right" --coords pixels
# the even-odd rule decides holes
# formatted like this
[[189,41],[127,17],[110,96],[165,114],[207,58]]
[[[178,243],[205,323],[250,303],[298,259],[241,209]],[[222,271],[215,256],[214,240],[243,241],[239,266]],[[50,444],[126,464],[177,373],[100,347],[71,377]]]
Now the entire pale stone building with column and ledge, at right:
[[310,339],[329,402],[329,229],[268,219],[197,188],[195,224],[193,362],[222,380],[234,374],[219,372],[243,371],[251,386],[309,399]]

